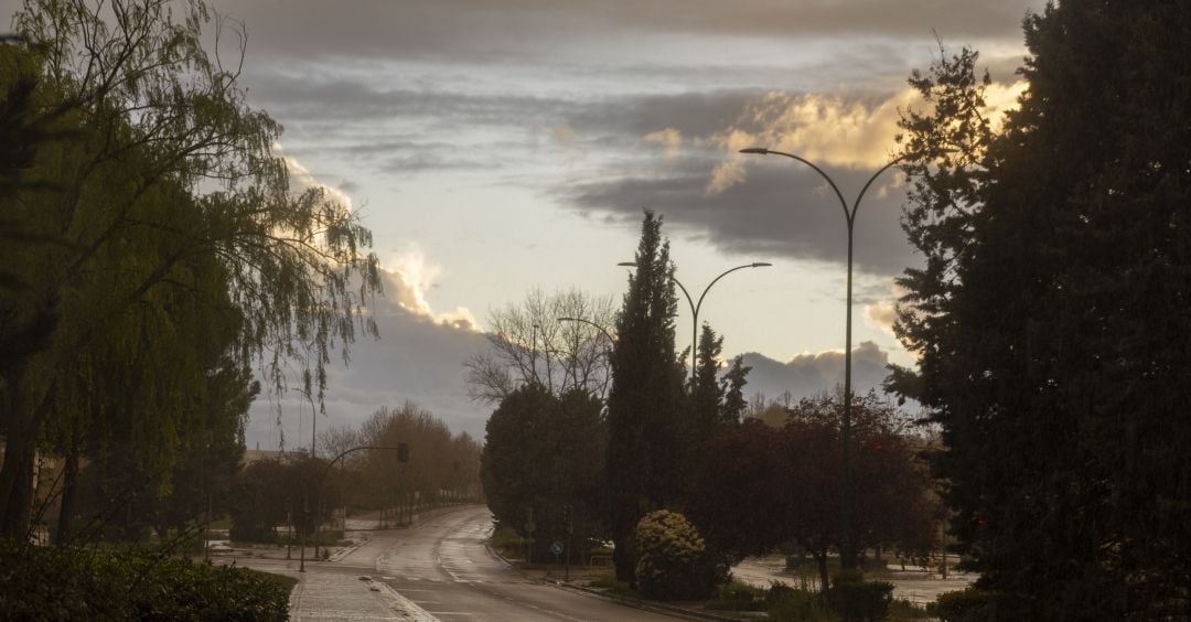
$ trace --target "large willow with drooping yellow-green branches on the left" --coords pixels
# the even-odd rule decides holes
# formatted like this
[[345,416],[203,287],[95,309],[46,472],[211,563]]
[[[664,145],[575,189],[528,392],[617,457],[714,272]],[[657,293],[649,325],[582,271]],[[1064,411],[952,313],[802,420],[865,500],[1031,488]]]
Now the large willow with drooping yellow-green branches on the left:
[[[0,361],[0,534],[26,528],[35,450],[76,353],[123,341],[148,355],[187,330],[170,300],[218,303],[197,263],[219,266],[219,297],[241,317],[232,355],[256,361],[274,391],[300,360],[322,397],[331,354],[358,328],[375,332],[360,312],[380,287],[369,231],[324,189],[291,188],[281,126],[239,82],[244,39],[225,66],[222,23],[214,51],[202,45],[211,23],[201,0],[27,0],[14,21],[25,44],[2,48],[0,86],[27,82],[32,66],[30,124],[49,127],[0,197],[17,241],[0,265],[21,284],[0,299],[0,350],[19,353]],[[173,438],[176,421],[141,422],[156,430],[142,450]]]

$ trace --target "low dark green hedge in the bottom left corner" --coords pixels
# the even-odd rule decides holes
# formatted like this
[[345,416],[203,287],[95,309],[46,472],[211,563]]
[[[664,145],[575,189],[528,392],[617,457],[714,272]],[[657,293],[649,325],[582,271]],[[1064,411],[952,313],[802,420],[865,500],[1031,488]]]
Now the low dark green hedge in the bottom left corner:
[[0,620],[287,620],[293,579],[145,552],[0,543]]

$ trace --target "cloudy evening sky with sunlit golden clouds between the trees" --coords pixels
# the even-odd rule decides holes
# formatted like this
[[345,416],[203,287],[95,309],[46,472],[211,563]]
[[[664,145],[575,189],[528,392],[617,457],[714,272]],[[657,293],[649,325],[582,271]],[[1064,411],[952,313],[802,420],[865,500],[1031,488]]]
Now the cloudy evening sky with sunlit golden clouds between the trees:
[[[462,367],[491,310],[532,288],[621,299],[642,210],[663,217],[678,279],[753,390],[840,379],[842,210],[897,149],[906,79],[980,51],[993,112],[1011,106],[1021,23],[1041,0],[213,0],[220,55],[245,35],[250,105],[286,129],[294,182],[351,204],[374,235],[378,342],[331,371],[318,429],[411,399],[482,438],[491,405]],[[18,6],[0,0],[0,15]],[[913,365],[890,328],[893,278],[919,259],[899,226],[903,179],[869,189],[855,228],[858,386]],[[679,349],[691,317],[678,318]],[[300,396],[252,408],[250,448],[308,447]],[[280,417],[279,417],[280,412]],[[280,425],[279,425],[280,422]]]

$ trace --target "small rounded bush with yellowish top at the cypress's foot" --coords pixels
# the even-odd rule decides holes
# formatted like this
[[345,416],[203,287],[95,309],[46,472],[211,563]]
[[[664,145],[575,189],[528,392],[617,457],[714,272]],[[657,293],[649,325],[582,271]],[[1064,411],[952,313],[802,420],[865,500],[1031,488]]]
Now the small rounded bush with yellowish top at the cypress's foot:
[[699,530],[669,510],[646,515],[635,533],[637,589],[650,598],[696,599],[727,579],[707,552]]

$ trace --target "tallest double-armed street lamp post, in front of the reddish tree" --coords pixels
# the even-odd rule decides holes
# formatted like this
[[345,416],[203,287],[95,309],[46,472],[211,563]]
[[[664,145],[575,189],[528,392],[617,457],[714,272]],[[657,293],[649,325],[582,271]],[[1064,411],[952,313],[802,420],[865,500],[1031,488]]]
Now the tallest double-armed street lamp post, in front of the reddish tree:
[[787,154],[784,151],[774,151],[766,148],[749,148],[741,149],[742,154],[757,154],[757,155],[780,155],[788,157],[791,160],[797,160],[813,169],[819,174],[831,189],[835,191],[835,197],[840,199],[840,207],[843,209],[843,218],[848,224],[848,301],[846,312],[846,324],[844,324],[844,346],[843,346],[843,421],[841,422],[841,434],[843,436],[843,539],[840,546],[840,560],[843,567],[852,568],[856,565],[855,551],[852,548],[852,504],[853,504],[853,472],[852,472],[852,459],[850,459],[850,447],[852,447],[852,250],[853,250],[853,230],[856,224],[856,211],[860,209],[860,200],[868,192],[868,187],[877,181],[877,178],[881,173],[885,173],[892,168],[898,162],[910,157],[912,154],[905,154],[900,157],[894,158],[890,163],[885,164],[877,173],[873,173],[865,186],[860,188],[860,193],[856,194],[856,199],[852,203],[852,207],[848,207],[848,201],[843,198],[843,193],[840,192],[840,187],[835,185],[835,181],[819,167],[815,166],[811,161],[797,156],[794,154]]

